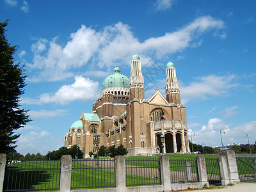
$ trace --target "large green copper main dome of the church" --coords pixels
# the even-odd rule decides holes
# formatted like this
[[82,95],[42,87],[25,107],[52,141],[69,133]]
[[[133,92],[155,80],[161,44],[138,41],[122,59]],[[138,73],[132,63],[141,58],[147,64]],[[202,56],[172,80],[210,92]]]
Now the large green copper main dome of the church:
[[129,88],[129,79],[121,73],[119,67],[114,68],[113,74],[106,77],[102,84],[102,91],[111,87]]

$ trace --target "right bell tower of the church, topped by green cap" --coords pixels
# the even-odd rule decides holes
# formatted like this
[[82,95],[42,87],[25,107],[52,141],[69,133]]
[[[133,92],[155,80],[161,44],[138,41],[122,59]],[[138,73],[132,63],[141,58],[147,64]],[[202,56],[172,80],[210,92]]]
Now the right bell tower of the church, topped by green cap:
[[180,87],[176,77],[176,69],[172,61],[166,65],[166,100],[170,103],[180,104]]

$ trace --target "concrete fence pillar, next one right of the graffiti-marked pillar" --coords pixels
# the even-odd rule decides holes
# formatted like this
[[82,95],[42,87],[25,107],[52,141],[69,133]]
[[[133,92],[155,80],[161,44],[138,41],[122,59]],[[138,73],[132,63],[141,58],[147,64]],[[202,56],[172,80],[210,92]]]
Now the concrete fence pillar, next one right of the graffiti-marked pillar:
[[116,189],[125,192],[125,157],[116,156]]

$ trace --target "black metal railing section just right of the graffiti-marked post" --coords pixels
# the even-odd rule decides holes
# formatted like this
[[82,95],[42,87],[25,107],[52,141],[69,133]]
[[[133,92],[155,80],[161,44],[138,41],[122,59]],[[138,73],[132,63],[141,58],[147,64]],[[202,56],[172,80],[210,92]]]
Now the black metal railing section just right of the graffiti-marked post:
[[115,160],[73,160],[71,188],[115,188]]

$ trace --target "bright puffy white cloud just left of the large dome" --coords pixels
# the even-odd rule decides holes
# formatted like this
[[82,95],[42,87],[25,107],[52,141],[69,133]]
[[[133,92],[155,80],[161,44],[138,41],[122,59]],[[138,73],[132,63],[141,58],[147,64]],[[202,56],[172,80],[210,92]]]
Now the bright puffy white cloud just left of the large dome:
[[[76,76],[73,84],[66,84],[56,93],[44,93],[40,95],[40,99],[22,98],[22,104],[45,104],[45,103],[57,103],[57,104],[68,104],[74,100],[93,100],[99,96],[99,83],[92,81],[89,78],[82,76]],[[58,111],[52,111],[52,115]],[[63,111],[61,111],[63,113]],[[65,112],[65,111],[64,111]],[[44,111],[41,111],[43,114]],[[39,115],[39,113],[33,113],[33,115]]]

